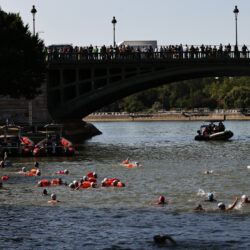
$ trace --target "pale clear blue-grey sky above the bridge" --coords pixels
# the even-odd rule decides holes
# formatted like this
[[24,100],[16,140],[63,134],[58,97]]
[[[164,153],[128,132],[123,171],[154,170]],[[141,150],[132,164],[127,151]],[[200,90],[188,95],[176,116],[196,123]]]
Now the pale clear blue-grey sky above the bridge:
[[50,44],[101,46],[116,42],[157,40],[158,45],[250,45],[249,0],[0,0],[6,12],[19,13],[32,30],[32,5],[37,9],[36,32]]

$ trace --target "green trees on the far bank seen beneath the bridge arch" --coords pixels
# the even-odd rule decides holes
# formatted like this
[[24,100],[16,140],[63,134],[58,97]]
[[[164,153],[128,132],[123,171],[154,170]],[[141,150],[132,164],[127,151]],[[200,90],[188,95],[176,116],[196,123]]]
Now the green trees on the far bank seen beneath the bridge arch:
[[175,82],[146,90],[105,107],[105,111],[249,107],[250,78],[222,77]]

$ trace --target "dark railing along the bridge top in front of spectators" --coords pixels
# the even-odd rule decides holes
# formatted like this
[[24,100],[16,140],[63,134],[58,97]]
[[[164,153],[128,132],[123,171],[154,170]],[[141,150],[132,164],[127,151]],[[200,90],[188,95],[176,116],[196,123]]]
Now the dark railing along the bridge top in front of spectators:
[[250,51],[166,51],[166,52],[52,52],[46,54],[46,61],[51,63],[90,62],[90,61],[145,61],[145,60],[204,60],[250,59]]

